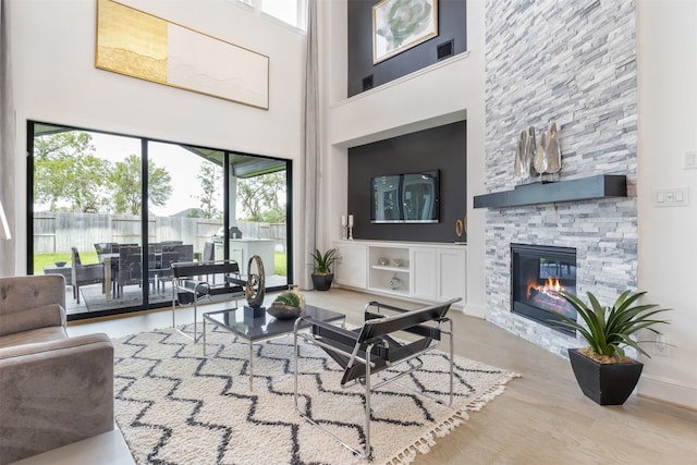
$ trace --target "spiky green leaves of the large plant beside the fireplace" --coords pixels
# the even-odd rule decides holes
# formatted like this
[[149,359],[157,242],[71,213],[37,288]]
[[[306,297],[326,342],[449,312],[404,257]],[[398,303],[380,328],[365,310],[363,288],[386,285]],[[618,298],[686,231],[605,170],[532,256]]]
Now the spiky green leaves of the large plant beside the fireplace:
[[560,315],[562,321],[559,325],[578,331],[598,355],[625,357],[624,347],[629,346],[651,358],[638,345],[647,341],[635,341],[632,336],[643,329],[660,334],[652,327],[661,323],[670,325],[668,320],[656,319],[658,314],[668,311],[669,308],[655,309],[658,307],[656,304],[634,305],[646,292],[632,294],[631,291],[625,291],[612,307],[601,305],[590,292],[588,292],[590,307],[574,294],[564,291],[560,291],[559,294],[576,309],[586,326],[564,315]]

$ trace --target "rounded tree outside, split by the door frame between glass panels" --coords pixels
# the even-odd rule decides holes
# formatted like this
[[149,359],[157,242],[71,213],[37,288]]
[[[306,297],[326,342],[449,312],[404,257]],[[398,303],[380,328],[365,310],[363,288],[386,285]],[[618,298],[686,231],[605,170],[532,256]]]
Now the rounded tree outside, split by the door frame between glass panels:
[[[118,161],[109,176],[113,192],[115,213],[140,215],[140,157],[135,154]],[[172,195],[172,176],[164,168],[148,161],[148,201],[150,206],[161,206]]]

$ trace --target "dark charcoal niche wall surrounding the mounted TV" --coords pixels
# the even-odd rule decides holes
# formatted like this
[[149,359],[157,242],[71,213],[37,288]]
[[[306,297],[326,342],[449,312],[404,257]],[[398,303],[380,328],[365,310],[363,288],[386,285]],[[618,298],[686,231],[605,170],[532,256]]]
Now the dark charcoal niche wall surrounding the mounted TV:
[[[455,221],[467,212],[464,121],[348,149],[348,213],[354,238],[417,242],[466,241]],[[427,224],[370,223],[370,180],[376,175],[440,171],[440,220]]]

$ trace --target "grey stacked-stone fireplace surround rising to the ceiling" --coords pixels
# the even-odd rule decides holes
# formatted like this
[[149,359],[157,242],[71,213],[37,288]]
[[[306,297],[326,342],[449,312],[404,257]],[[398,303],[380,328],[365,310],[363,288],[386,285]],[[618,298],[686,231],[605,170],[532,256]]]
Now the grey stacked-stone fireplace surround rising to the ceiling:
[[511,243],[573,247],[577,295],[602,303],[636,290],[636,10],[612,2],[486,2],[486,193],[516,179],[515,140],[555,121],[559,180],[626,175],[627,197],[489,208],[485,219],[486,318],[566,357],[582,341],[511,313]]

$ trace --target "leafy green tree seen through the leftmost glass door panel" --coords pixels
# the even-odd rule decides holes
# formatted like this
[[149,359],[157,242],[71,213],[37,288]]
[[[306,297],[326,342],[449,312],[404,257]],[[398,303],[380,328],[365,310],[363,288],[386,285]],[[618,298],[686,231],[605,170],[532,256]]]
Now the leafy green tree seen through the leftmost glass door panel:
[[68,131],[34,140],[34,199],[51,210],[96,213],[108,204],[111,163],[95,157],[91,136]]

